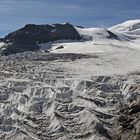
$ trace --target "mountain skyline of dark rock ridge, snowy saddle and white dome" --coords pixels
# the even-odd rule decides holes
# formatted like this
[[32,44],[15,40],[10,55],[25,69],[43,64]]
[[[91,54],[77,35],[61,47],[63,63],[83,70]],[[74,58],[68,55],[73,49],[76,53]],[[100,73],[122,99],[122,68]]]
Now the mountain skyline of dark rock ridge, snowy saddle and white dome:
[[[96,40],[101,39],[130,41],[139,38],[139,24],[140,20],[130,20],[108,29],[81,28],[81,26],[74,26],[70,23],[52,25],[27,24],[0,39],[0,42],[5,43],[3,46],[0,45],[0,52],[1,54],[9,55],[25,51],[38,51],[41,49],[40,44],[58,40],[71,40],[72,42],[75,40],[96,42]],[[123,32],[121,31],[122,28]],[[128,31],[128,29],[130,30]],[[50,49],[50,47],[46,49]]]

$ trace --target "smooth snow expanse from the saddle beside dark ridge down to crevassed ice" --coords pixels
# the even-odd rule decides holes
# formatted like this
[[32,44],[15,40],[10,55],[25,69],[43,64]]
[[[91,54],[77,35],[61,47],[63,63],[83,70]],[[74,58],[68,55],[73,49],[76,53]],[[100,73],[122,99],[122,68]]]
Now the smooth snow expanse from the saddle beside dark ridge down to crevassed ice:
[[[128,21],[128,23],[134,24],[138,21]],[[86,71],[87,75],[125,74],[140,70],[140,38],[137,35],[137,38],[130,40],[117,40],[107,38],[106,29],[75,28],[80,35],[92,36],[92,40],[54,42],[51,44],[50,52],[88,54],[95,58],[78,60],[68,64],[68,67],[77,68],[81,72]],[[123,34],[117,33],[117,36],[121,38]],[[45,45],[43,47],[45,48]]]

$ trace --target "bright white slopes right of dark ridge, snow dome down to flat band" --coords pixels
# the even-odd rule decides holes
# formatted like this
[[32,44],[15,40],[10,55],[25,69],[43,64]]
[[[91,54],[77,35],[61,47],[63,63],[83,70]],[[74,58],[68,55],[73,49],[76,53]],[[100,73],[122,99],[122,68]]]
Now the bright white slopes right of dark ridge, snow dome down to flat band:
[[[104,53],[122,52],[129,49],[139,50],[139,21],[132,20],[111,28],[80,28],[78,33],[87,39],[81,42],[53,42],[50,52],[53,53]],[[45,48],[45,45],[44,45]]]

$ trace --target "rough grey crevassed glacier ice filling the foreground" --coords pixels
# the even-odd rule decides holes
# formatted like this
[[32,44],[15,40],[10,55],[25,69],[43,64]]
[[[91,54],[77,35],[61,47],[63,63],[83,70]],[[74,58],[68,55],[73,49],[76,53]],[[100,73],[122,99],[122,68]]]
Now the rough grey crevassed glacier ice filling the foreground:
[[95,59],[41,52],[0,57],[0,139],[137,137],[139,73],[96,76],[72,67]]

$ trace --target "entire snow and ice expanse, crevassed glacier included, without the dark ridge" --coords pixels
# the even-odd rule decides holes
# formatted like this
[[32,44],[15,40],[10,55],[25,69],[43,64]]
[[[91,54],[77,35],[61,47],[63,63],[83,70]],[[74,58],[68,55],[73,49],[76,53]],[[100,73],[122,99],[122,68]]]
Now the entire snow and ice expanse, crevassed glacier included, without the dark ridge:
[[139,20],[75,28],[85,40],[0,56],[0,140],[140,138]]

